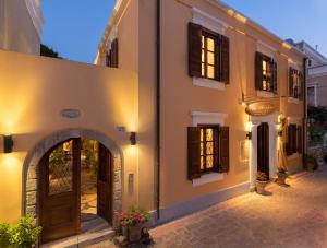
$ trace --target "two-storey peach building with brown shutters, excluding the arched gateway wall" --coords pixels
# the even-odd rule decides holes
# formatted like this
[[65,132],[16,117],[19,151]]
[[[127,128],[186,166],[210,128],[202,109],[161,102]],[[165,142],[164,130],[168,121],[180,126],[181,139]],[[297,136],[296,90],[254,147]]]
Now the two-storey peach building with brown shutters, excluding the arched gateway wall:
[[258,170],[301,170],[305,55],[221,2],[159,4],[117,1],[95,61],[140,76],[140,135],[159,161],[140,151],[157,191],[138,203],[166,221],[247,191]]

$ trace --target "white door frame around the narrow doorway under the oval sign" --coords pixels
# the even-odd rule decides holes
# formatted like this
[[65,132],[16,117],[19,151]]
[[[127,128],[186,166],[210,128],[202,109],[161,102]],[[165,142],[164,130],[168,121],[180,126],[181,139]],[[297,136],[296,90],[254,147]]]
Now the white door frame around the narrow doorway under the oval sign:
[[255,187],[257,174],[257,127],[262,122],[269,125],[269,176],[271,179],[276,176],[278,168],[278,117],[279,113],[274,113],[269,116],[250,116],[251,123],[251,149],[250,149],[250,186]]

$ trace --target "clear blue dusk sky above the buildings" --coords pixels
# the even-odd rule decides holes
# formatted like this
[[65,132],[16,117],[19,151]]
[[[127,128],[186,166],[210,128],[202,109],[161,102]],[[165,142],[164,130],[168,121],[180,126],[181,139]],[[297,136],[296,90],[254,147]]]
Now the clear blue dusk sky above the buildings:
[[[136,0],[132,0],[136,1]],[[149,0],[148,0],[149,1]],[[43,43],[70,60],[93,62],[116,0],[43,1]],[[326,0],[225,0],[281,38],[306,40],[327,56]]]

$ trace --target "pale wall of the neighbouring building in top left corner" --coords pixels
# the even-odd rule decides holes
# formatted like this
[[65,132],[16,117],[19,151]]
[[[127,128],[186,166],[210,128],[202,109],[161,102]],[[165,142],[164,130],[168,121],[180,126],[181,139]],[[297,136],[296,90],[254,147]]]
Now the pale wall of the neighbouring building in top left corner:
[[43,20],[40,12],[37,12],[33,21],[32,8],[38,10],[39,1],[0,0],[1,49],[39,55],[40,37],[34,21],[41,25]]

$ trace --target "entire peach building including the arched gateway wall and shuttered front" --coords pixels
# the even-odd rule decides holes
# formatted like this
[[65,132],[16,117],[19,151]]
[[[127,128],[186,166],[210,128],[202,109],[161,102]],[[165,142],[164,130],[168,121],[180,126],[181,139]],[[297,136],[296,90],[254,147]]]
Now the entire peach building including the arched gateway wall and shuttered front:
[[33,215],[41,243],[85,215],[140,205],[158,224],[302,169],[305,55],[220,1],[117,1],[96,66],[0,54],[0,221]]

